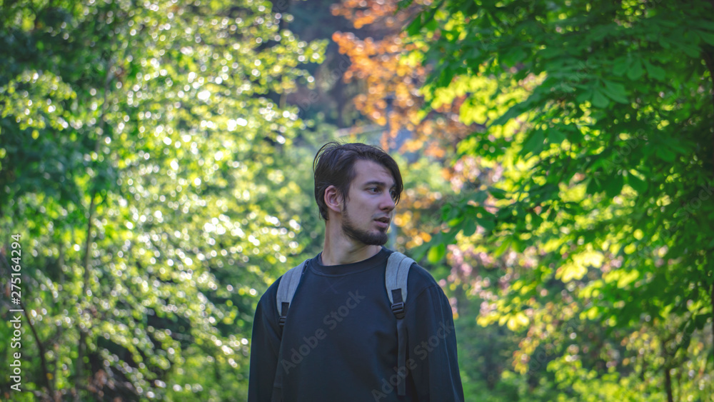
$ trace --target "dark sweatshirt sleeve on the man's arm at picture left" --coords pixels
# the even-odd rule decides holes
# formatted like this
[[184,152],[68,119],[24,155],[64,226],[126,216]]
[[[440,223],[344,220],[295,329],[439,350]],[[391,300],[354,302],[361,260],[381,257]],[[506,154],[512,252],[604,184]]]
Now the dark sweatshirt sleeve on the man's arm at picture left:
[[277,311],[271,314],[276,308],[274,302],[276,291],[274,288],[275,286],[268,288],[268,291],[261,297],[253,320],[248,402],[270,402],[272,398],[273,381],[275,380],[280,349],[280,329],[277,318],[273,319],[273,316],[277,316]]

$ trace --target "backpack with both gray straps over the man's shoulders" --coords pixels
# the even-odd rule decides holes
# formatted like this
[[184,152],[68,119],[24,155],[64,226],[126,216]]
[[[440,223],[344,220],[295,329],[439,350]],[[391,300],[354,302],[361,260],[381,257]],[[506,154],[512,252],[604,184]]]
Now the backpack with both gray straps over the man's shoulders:
[[[291,268],[283,274],[283,278],[281,278],[280,283],[278,283],[276,306],[278,307],[278,314],[280,315],[278,323],[280,323],[281,328],[285,326],[288,308],[290,308],[290,303],[293,301],[298,283],[300,283],[300,279],[305,271],[306,263],[307,260]],[[398,375],[402,379],[398,385],[398,396],[406,396],[406,381],[403,381],[404,378],[406,378],[406,324],[403,318],[405,315],[404,303],[406,303],[407,296],[407,279],[409,276],[409,268],[411,268],[411,264],[413,263],[413,259],[394,251],[387,260],[387,268],[384,273],[384,286],[387,289],[387,296],[392,306],[392,313],[394,313],[394,316],[397,318],[397,367]],[[280,353],[278,356],[282,356],[282,340],[283,338],[281,336]],[[278,364],[273,389],[276,387],[282,388],[282,373],[283,370],[281,370]]]

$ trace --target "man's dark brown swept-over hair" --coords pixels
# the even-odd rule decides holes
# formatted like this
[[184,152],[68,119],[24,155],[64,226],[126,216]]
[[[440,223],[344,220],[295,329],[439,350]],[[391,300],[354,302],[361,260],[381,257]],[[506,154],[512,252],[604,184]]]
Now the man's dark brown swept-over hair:
[[394,178],[394,202],[399,202],[404,184],[399,172],[399,166],[389,154],[376,146],[359,143],[340,144],[336,141],[331,141],[317,151],[313,160],[315,201],[317,201],[317,205],[320,208],[320,215],[326,221],[328,217],[325,190],[329,186],[335,186],[338,194],[344,200],[348,199],[350,186],[356,176],[354,169],[356,161],[373,161],[390,171]]

